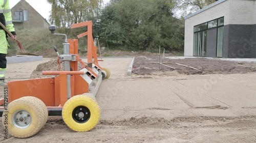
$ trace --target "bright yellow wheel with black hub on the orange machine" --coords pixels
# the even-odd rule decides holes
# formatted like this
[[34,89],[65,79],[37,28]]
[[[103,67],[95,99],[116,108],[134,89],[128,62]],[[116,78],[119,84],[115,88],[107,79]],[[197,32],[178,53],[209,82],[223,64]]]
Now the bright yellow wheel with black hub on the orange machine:
[[98,103],[86,94],[76,95],[63,106],[62,119],[73,131],[90,131],[99,122],[100,108]]

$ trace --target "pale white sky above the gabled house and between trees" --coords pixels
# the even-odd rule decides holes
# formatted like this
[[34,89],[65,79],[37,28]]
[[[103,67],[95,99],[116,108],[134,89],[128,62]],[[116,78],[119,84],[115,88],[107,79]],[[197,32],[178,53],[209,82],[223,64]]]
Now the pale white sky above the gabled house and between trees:
[[[10,7],[14,7],[20,0],[10,0]],[[42,17],[49,19],[51,5],[47,0],[26,0]],[[108,3],[109,0],[103,0],[104,3]]]

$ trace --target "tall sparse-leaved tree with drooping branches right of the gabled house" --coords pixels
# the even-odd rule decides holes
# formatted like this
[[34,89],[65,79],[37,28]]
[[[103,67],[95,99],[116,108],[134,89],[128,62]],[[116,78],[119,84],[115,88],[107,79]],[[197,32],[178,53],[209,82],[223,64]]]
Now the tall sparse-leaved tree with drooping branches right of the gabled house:
[[99,14],[102,0],[47,0],[52,5],[50,21],[59,27],[90,20]]

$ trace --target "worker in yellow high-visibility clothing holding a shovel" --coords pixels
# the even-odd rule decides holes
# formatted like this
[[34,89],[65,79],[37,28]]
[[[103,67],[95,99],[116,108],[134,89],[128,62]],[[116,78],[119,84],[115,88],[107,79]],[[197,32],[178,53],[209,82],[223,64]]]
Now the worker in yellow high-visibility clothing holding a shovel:
[[10,37],[4,28],[0,26],[0,85],[6,86],[7,82],[5,81],[5,72],[6,72],[6,55],[7,49],[9,47],[7,38],[8,36],[12,40],[16,40],[16,33],[12,23],[12,14],[9,5],[9,0],[0,0],[0,22],[6,26],[6,28],[13,34]]

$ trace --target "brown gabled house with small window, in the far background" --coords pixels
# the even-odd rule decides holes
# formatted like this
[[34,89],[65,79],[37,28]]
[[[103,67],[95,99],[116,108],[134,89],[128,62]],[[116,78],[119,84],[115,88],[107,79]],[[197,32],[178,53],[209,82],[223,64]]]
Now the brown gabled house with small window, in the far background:
[[46,28],[50,24],[25,0],[19,1],[12,9],[12,23],[17,28]]

